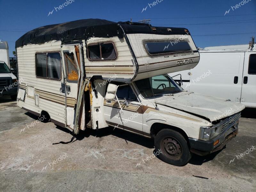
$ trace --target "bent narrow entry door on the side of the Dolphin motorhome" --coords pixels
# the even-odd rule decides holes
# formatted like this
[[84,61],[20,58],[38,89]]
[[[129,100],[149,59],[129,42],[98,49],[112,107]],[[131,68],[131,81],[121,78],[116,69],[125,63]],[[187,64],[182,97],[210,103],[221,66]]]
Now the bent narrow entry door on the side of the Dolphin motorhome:
[[[63,45],[61,48],[65,95],[66,95],[66,127],[74,129],[75,106],[81,78],[81,49],[79,44]],[[62,86],[62,91],[63,91]]]

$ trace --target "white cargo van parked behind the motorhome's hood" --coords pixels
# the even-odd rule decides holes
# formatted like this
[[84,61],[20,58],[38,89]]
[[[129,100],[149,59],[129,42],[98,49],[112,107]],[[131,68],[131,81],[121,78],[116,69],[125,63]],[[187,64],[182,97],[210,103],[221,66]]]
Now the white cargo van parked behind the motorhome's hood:
[[[252,41],[253,42],[253,41]],[[256,48],[248,45],[205,47],[195,68],[169,74],[183,89],[256,108]]]

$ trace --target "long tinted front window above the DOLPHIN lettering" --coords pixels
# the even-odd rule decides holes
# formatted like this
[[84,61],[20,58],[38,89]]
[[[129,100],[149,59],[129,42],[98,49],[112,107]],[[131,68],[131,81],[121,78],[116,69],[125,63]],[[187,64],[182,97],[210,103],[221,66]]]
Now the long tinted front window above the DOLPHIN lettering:
[[189,52],[191,50],[187,41],[165,41],[165,42],[145,42],[145,48],[150,55],[166,53]]

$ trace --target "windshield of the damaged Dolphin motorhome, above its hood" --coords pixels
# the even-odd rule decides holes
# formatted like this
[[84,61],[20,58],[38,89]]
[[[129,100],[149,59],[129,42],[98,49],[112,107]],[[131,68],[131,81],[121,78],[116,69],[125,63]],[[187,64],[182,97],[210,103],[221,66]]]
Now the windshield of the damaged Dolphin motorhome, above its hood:
[[[183,89],[167,74],[141,79],[135,81],[135,84],[144,98],[183,91]],[[152,85],[154,95],[150,84]]]

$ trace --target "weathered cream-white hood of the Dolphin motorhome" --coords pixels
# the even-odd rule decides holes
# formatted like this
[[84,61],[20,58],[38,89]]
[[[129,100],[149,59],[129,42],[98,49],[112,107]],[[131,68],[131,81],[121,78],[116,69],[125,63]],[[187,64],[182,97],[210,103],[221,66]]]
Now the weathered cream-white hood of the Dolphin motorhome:
[[193,92],[180,92],[173,96],[156,98],[156,103],[204,116],[210,119],[211,122],[236,114],[245,108],[240,103]]

